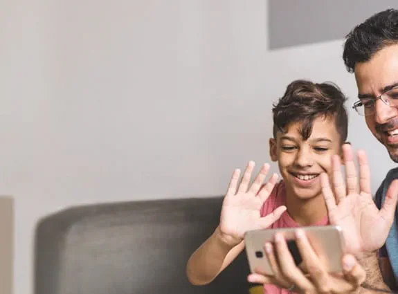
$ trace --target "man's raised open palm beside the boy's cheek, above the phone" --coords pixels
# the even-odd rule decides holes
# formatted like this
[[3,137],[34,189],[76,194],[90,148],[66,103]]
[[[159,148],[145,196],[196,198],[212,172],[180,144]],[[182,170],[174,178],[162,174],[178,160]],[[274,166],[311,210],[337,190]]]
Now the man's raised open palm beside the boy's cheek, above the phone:
[[[338,156],[332,158],[332,185],[321,174],[323,196],[330,223],[343,228],[347,252],[371,252],[386,241],[397,205],[398,181],[388,188],[386,201],[377,208],[370,191],[370,169],[365,151],[358,151],[359,176],[350,145],[343,145],[345,179]],[[332,186],[332,187],[331,187]]]

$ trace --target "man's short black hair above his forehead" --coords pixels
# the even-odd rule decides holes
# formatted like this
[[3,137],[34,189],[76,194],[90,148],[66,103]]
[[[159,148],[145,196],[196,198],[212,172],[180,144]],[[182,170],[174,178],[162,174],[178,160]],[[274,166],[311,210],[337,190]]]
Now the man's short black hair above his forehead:
[[378,12],[345,36],[343,60],[347,71],[354,72],[357,62],[367,62],[384,47],[398,43],[398,10]]

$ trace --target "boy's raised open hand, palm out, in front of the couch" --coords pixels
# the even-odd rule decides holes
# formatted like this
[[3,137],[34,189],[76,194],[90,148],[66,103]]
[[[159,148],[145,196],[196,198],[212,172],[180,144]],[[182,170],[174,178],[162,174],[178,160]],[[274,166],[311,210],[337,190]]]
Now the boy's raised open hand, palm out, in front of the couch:
[[239,187],[240,170],[235,169],[222,204],[219,231],[221,238],[230,246],[239,244],[248,230],[268,228],[286,210],[282,205],[266,217],[260,217],[262,204],[271,194],[278,175],[273,174],[268,183],[263,185],[269,172],[269,164],[266,163],[250,185],[254,166],[253,161],[248,163]]

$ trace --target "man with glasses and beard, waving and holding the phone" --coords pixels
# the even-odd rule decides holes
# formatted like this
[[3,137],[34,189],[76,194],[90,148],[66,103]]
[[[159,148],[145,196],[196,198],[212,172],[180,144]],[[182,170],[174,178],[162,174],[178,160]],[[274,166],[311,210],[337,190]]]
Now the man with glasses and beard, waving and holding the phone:
[[[343,59],[347,70],[354,73],[359,100],[354,109],[365,118],[372,134],[383,144],[390,158],[398,163],[398,10],[385,10],[373,15],[347,35]],[[370,172],[365,153],[358,152],[359,176],[349,145],[343,148],[346,179],[340,169],[340,160],[333,158],[332,185],[323,174],[323,194],[332,224],[343,228],[350,253],[355,255],[367,272],[360,293],[379,293],[397,289],[398,233],[397,194],[398,168],[388,172],[376,195],[370,194]],[[280,266],[275,277],[249,275],[250,282],[291,285],[297,293],[346,293],[352,290],[333,286],[335,278],[325,272],[305,236],[298,232],[300,252],[309,275],[305,276],[294,265],[285,242],[276,243]],[[377,259],[379,252],[380,263]],[[360,271],[359,264],[347,255],[343,266]],[[361,284],[361,275],[351,271],[341,279]],[[383,274],[383,277],[382,275]]]

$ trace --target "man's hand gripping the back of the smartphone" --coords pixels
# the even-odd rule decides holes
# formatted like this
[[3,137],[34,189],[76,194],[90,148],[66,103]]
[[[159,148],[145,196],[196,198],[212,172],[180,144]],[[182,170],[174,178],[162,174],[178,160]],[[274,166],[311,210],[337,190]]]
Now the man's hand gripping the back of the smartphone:
[[251,273],[248,282],[275,284],[296,293],[350,293],[356,291],[365,281],[365,270],[352,255],[343,255],[342,273],[329,273],[311,246],[302,229],[296,230],[296,244],[302,258],[297,266],[286,239],[281,233],[275,235],[273,244],[265,244],[266,257],[271,264],[273,275]]

